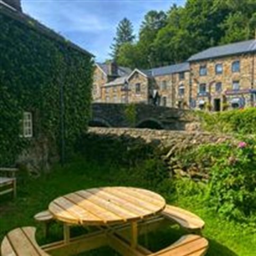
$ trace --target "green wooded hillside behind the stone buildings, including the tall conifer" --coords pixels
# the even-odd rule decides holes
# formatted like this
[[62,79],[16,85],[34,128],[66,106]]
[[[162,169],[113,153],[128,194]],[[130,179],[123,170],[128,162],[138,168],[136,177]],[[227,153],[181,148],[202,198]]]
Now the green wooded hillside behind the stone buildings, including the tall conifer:
[[122,23],[112,56],[122,66],[152,68],[180,63],[209,47],[254,38],[256,2],[187,0],[167,12],[152,10],[144,16],[137,40],[131,22],[120,30]]

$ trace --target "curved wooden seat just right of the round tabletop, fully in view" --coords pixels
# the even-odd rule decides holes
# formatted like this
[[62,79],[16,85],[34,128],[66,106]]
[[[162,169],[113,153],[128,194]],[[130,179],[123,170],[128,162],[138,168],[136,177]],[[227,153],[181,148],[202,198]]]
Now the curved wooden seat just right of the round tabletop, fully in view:
[[186,229],[200,230],[205,226],[204,220],[202,220],[200,217],[179,207],[166,205],[161,214],[165,218],[173,220],[175,223],[178,223],[180,226]]

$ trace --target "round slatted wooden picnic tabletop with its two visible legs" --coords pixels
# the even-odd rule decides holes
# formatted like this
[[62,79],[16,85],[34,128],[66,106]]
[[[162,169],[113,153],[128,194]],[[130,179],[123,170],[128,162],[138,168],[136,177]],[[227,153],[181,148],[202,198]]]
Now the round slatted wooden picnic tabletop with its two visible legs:
[[[155,192],[131,187],[103,187],[80,190],[52,201],[49,211],[65,224],[111,225],[131,223],[131,245],[137,244],[137,222],[165,208],[165,200]],[[69,232],[64,225],[64,238]]]

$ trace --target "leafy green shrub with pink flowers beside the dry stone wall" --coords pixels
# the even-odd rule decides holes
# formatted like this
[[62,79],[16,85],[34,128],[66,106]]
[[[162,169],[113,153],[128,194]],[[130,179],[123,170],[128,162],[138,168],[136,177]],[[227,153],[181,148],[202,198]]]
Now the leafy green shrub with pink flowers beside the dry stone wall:
[[243,218],[256,211],[256,140],[238,145],[201,146],[197,160],[210,166],[207,199],[227,217]]

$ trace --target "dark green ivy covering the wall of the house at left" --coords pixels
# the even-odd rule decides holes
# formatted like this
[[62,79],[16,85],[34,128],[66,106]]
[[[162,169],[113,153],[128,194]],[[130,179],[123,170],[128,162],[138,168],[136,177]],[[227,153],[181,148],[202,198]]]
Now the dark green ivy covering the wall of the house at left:
[[[14,164],[42,137],[58,150],[64,137],[65,151],[72,150],[90,118],[92,55],[27,15],[15,15],[0,10],[0,166]],[[32,139],[20,136],[23,111],[33,113]]]

